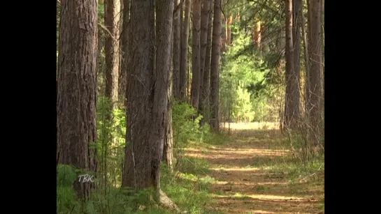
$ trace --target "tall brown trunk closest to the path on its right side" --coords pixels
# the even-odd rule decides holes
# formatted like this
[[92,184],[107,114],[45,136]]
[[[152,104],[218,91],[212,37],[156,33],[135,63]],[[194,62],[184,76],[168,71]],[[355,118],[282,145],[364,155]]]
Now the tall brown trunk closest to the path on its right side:
[[286,72],[285,72],[285,127],[296,128],[299,120],[299,81],[294,69],[293,3],[286,1]]

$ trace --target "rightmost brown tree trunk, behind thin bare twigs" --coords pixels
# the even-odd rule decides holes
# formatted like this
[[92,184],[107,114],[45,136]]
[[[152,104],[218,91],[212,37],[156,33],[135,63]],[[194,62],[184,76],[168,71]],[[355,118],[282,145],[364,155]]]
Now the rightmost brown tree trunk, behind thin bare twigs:
[[322,2],[321,0],[308,1],[308,40],[310,52],[310,100],[308,109],[312,131],[314,132],[313,143],[319,143],[322,133],[320,99],[322,96],[321,73],[322,73]]

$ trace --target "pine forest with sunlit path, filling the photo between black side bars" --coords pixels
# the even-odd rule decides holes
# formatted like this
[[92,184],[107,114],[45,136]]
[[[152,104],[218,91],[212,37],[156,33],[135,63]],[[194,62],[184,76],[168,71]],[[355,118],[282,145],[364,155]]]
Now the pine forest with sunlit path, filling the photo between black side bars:
[[324,0],[57,0],[57,213],[324,213]]

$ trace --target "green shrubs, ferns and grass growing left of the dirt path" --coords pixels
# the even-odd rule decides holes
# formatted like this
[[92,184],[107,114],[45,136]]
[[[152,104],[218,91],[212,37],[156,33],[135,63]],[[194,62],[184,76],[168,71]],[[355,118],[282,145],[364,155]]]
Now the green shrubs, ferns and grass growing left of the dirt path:
[[[57,165],[57,213],[171,213],[152,202],[151,189],[130,195],[120,188],[126,133],[124,109],[110,110],[110,102],[99,98],[97,103],[97,142],[91,144],[97,149],[98,171],[95,176],[96,190],[87,201],[76,197],[72,184],[78,171],[69,165]],[[110,115],[110,116],[108,116]],[[213,178],[206,176],[209,163],[197,158],[183,157],[183,148],[189,142],[202,144],[223,144],[223,135],[210,132],[209,126],[199,125],[201,115],[184,103],[173,105],[173,139],[175,171],[171,174],[166,165],[161,166],[161,189],[166,192],[182,211],[201,214],[212,213],[206,208],[210,201],[208,188]]]

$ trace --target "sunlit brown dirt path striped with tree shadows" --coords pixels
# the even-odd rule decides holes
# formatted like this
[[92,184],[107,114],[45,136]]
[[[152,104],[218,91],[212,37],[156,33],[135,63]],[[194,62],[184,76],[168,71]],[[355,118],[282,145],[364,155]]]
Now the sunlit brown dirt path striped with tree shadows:
[[279,130],[245,129],[247,124],[231,130],[227,144],[194,143],[185,151],[185,156],[209,163],[203,176],[213,181],[210,211],[324,213],[324,162],[303,167],[280,146]]

